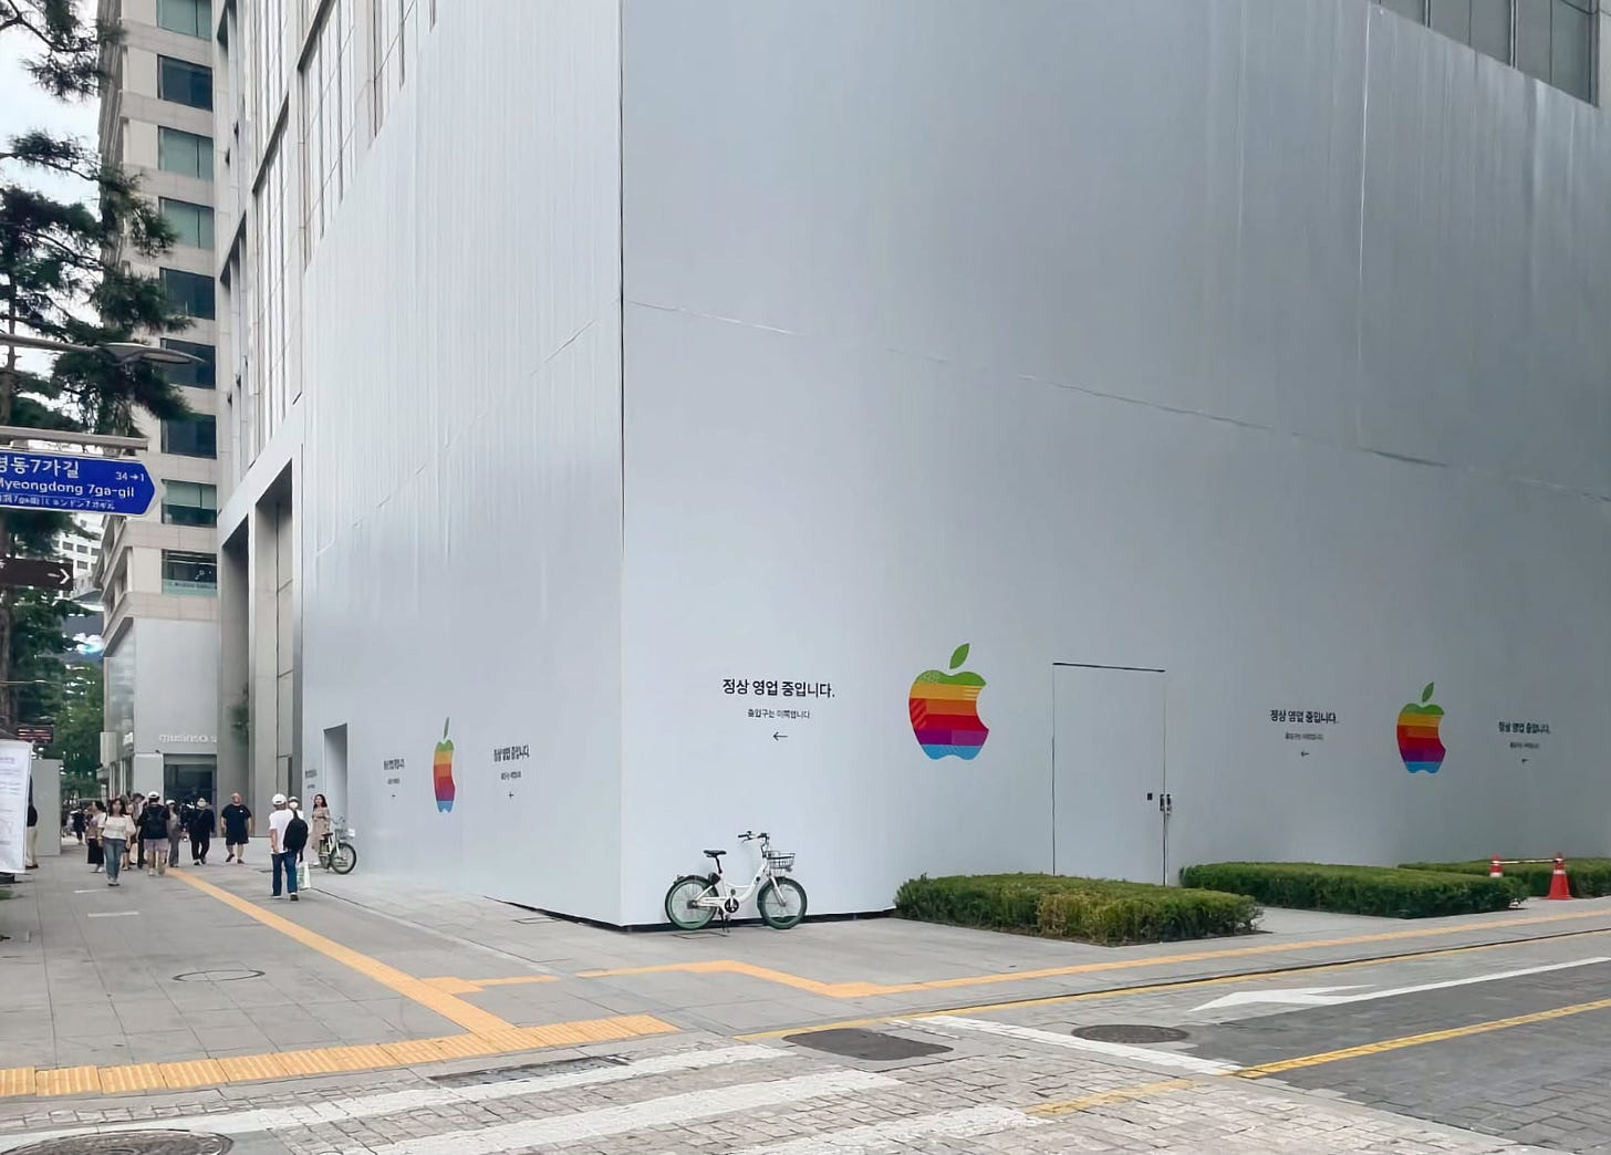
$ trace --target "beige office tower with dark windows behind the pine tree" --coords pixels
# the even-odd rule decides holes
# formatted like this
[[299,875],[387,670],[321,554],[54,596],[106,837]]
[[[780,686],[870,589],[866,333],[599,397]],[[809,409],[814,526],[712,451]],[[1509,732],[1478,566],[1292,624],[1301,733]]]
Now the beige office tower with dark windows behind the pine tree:
[[156,483],[142,517],[108,517],[95,582],[105,604],[108,786],[166,796],[214,791],[217,694],[217,433],[213,37],[208,0],[101,0],[122,29],[106,52],[100,150],[140,180],[172,248],[119,259],[158,277],[190,314],[148,337],[197,358],[166,369],[192,416],[139,417]]

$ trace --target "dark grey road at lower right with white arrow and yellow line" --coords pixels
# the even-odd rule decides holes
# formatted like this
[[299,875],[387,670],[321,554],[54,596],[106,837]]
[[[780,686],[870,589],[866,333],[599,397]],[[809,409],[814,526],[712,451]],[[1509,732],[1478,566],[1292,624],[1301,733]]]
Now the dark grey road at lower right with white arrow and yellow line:
[[[1547,967],[1556,970],[1516,973]],[[1184,1039],[1149,1049],[1223,1062],[1244,1071],[1234,1078],[1611,1155],[1611,933],[970,1013],[1063,1036],[1092,1025],[1176,1028]]]

